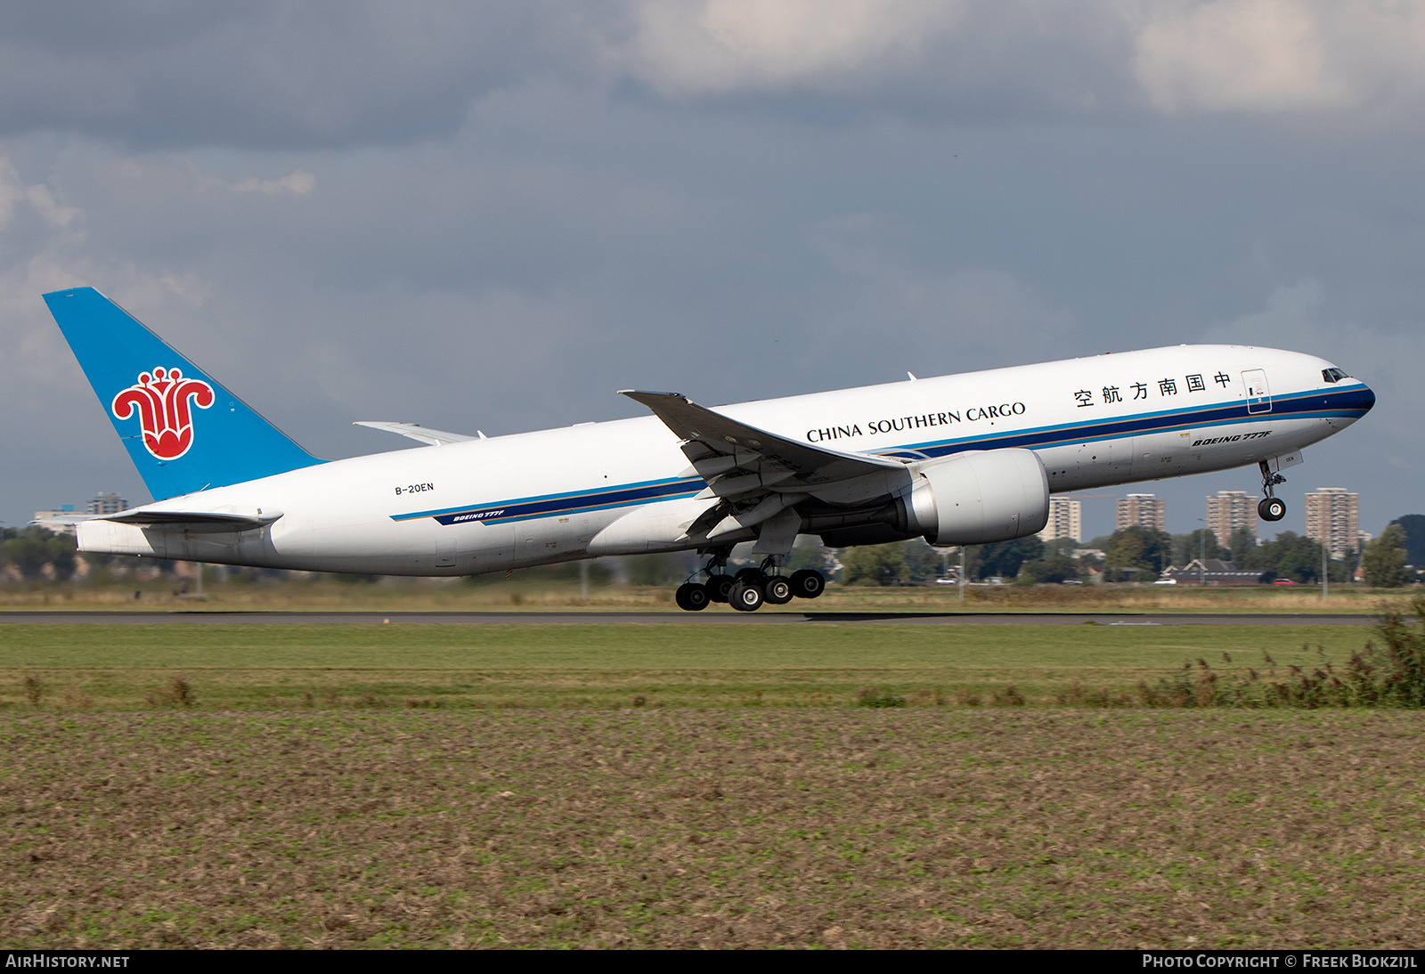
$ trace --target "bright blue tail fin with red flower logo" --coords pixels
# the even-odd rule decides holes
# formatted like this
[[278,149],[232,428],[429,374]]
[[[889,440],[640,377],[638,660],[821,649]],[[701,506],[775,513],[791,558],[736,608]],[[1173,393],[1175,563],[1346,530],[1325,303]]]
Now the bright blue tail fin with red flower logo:
[[322,463],[93,288],[44,303],[155,500]]

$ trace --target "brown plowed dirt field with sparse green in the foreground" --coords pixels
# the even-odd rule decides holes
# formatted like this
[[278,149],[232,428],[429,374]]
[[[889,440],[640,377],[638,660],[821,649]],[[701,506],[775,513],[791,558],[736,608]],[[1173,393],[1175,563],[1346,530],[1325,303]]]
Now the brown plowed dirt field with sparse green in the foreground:
[[1418,947],[1425,715],[0,715],[4,947]]

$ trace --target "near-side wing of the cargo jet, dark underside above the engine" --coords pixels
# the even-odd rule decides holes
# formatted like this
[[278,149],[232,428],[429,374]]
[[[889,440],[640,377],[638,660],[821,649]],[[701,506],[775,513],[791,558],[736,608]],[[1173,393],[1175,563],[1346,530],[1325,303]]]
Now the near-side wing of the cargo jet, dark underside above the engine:
[[683,440],[683,453],[720,497],[771,491],[856,503],[909,481],[905,464],[896,460],[788,440],[698,406],[680,393],[634,389],[621,393],[651,409]]

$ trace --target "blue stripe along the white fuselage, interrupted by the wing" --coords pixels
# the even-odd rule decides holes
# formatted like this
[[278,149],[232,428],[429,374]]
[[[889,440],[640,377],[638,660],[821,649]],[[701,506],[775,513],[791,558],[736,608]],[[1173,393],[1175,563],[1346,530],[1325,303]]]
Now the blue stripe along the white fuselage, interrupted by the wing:
[[[1203,429],[1208,426],[1231,426],[1244,421],[1267,423],[1280,419],[1327,417],[1359,419],[1371,409],[1374,402],[1375,393],[1372,393],[1367,386],[1352,386],[1348,389],[1318,390],[1295,396],[1282,396],[1273,400],[1265,410],[1255,413],[1248,413],[1247,403],[1237,400],[1230,404],[1214,404],[1206,409],[1188,407],[1157,413],[1139,413],[1136,416],[1126,416],[1114,420],[1060,423],[1059,426],[1040,426],[1005,434],[911,443],[888,447],[881,451],[881,456],[905,450],[915,450],[931,457],[950,456],[953,453],[963,453],[965,450],[1003,450],[1009,447],[1042,450],[1069,443],[1120,440],[1130,436],[1141,436],[1144,433],[1171,433],[1188,427]],[[420,517],[433,517],[436,521],[446,525],[469,524],[472,521],[480,521],[484,524],[529,521],[540,517],[580,514],[596,510],[630,507],[633,504],[647,504],[650,501],[694,497],[707,484],[700,477],[670,477],[665,480],[646,480],[634,484],[618,484],[591,491],[519,497],[514,500],[500,501],[497,504],[445,507],[430,511],[412,511],[410,514],[392,514],[390,520],[410,521]]]

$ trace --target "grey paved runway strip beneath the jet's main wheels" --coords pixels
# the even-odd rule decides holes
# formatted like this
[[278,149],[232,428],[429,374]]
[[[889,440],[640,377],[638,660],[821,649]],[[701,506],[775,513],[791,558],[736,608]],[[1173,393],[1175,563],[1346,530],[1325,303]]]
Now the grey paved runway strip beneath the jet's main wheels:
[[1357,614],[1226,612],[0,612],[0,625],[1375,625]]

